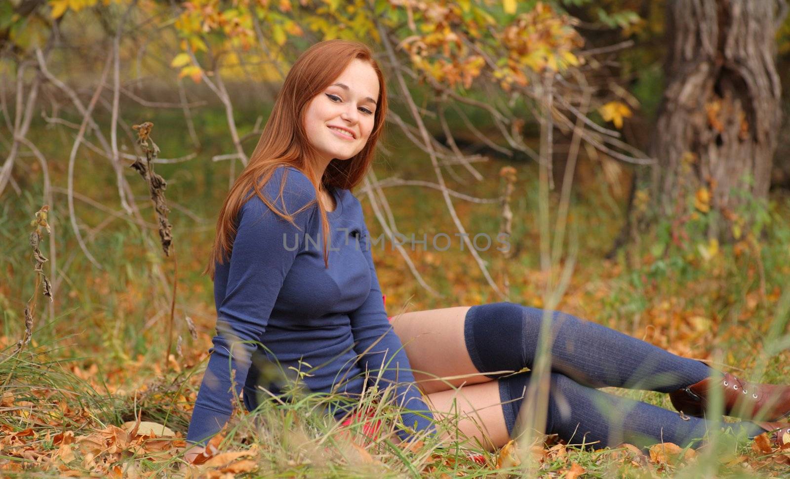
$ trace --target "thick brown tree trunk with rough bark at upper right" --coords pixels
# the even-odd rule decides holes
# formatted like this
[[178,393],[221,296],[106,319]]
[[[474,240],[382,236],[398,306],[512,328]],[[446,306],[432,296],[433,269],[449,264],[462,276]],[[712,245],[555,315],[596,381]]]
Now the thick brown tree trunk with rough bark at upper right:
[[[660,217],[685,213],[690,194],[725,219],[746,198],[767,197],[781,121],[774,61],[783,15],[784,0],[668,1],[667,85],[650,145]],[[728,237],[717,226],[709,234]]]

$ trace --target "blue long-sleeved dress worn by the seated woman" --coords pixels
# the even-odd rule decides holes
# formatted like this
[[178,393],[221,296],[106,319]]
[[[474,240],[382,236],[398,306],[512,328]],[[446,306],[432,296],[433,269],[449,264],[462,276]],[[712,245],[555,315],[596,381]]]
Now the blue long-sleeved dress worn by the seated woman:
[[[307,176],[290,166],[276,168],[262,190],[288,213],[316,198]],[[333,194],[337,207],[327,213],[329,269],[324,266],[317,203],[295,214],[299,228],[258,196],[240,209],[231,258],[216,263],[217,333],[187,442],[205,445],[220,432],[242,388],[248,410],[268,397],[257,386],[279,393],[282,383],[268,372],[278,363],[276,369],[290,372],[292,378],[301,372],[299,382],[309,390],[349,397],[363,390],[366,369],[371,376],[382,370],[385,382],[398,384],[399,403],[406,408],[404,424],[431,427],[401,340],[387,320],[362,206],[349,190],[337,188]],[[342,413],[344,409],[337,409],[338,417]]]

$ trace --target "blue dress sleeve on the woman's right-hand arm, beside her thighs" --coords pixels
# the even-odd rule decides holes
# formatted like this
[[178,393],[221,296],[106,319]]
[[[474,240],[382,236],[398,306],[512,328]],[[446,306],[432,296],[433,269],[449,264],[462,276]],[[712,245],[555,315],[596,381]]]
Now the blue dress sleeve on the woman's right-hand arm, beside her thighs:
[[[362,306],[349,315],[355,343],[354,351],[361,356],[359,363],[371,372],[371,376],[381,372],[382,387],[396,385],[397,404],[404,408],[401,412],[404,425],[416,431],[435,432],[431,409],[423,402],[422,394],[416,387],[412,366],[408,363],[401,339],[397,337],[387,320],[382,289],[378,285],[378,276],[371,255],[372,245],[365,225],[363,225],[362,238],[359,239],[359,248],[371,268],[371,291]],[[398,436],[407,439],[411,434],[408,430],[399,431]]]

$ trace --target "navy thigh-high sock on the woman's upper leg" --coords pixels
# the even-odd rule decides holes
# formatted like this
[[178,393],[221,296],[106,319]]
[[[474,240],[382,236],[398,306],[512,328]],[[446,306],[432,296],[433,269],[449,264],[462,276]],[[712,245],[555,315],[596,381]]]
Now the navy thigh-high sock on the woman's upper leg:
[[[511,302],[469,308],[464,336],[477,370],[532,368],[544,311]],[[551,370],[591,387],[672,392],[707,378],[713,370],[595,322],[555,311],[551,317]]]

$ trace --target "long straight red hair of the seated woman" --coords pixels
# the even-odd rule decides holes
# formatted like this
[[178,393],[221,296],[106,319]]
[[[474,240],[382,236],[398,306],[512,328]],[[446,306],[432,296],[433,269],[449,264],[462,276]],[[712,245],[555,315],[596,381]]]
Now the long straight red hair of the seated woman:
[[[323,177],[314,178],[313,172],[317,163],[314,158],[318,155],[313,145],[307,140],[304,113],[307,111],[310,100],[313,100],[315,96],[321,94],[331,85],[355,58],[369,63],[378,76],[378,102],[374,112],[373,130],[359,153],[348,160],[333,159],[327,165]],[[261,201],[269,206],[274,213],[295,224],[293,215],[302,209],[292,214],[283,213],[273,204],[276,198],[269,202],[269,199],[261,194],[261,187],[269,181],[277,167],[298,168],[310,179],[317,192],[315,201],[318,202],[321,213],[322,232],[329,231],[325,202],[318,192],[324,191],[327,187],[351,189],[362,181],[373,160],[376,142],[382,134],[386,111],[387,96],[384,76],[373,58],[371,49],[364,43],[350,40],[326,40],[314,44],[302,55],[299,55],[285,77],[282,89],[277,93],[272,114],[263,128],[263,133],[261,133],[261,138],[258,140],[258,145],[255,146],[249,163],[235,179],[228,192],[228,197],[225,198],[222,209],[220,209],[220,217],[216,221],[216,238],[211,249],[209,264],[203,273],[209,273],[213,280],[215,262],[224,264],[230,259],[236,236],[236,217],[239,209],[252,198],[253,194],[257,194],[258,198],[261,198]],[[284,183],[281,183],[280,195],[283,189]],[[313,205],[313,203],[308,203],[304,208]],[[329,235],[322,236],[324,237],[324,266],[328,268]]]

